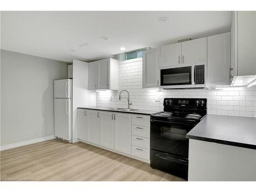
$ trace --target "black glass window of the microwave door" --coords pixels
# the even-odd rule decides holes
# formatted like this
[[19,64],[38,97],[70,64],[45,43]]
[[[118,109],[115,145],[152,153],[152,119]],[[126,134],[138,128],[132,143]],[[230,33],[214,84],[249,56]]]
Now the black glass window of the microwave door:
[[161,69],[161,86],[191,84],[191,66]]

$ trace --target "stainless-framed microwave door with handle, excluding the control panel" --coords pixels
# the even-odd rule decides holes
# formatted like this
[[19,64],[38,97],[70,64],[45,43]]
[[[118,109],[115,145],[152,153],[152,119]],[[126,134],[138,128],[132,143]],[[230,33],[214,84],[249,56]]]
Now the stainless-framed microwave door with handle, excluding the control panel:
[[195,65],[175,65],[160,67],[160,88],[195,88]]

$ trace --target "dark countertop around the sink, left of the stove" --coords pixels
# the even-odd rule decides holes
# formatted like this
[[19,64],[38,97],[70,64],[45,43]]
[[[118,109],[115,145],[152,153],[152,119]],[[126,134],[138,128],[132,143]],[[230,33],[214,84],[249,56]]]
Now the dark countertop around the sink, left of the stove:
[[120,110],[113,110],[110,107],[104,107],[104,106],[84,106],[79,107],[77,109],[89,109],[89,110],[101,110],[101,111],[113,111],[117,113],[131,113],[131,114],[141,114],[141,115],[152,115],[154,113],[159,113],[161,111],[154,111],[154,110],[138,110],[138,111],[120,111]]

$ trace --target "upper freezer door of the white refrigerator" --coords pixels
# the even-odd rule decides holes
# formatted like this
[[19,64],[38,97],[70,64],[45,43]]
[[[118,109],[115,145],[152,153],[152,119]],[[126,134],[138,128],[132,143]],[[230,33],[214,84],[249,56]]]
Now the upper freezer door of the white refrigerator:
[[54,98],[70,98],[70,79],[54,80]]

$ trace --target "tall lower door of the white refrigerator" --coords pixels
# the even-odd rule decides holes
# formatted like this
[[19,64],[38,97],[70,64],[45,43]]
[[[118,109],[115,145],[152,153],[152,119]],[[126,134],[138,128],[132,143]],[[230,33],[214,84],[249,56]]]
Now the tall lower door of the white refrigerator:
[[54,135],[71,140],[71,99],[54,99]]

